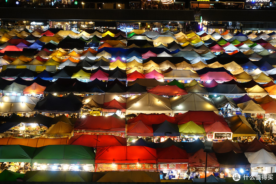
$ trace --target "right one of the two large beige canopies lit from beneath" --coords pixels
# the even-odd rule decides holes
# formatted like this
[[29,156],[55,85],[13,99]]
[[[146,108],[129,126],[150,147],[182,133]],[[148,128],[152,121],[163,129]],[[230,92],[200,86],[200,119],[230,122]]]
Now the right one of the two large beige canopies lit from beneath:
[[187,95],[169,98],[174,113],[191,111],[214,111],[218,113],[216,106],[207,97],[191,93]]

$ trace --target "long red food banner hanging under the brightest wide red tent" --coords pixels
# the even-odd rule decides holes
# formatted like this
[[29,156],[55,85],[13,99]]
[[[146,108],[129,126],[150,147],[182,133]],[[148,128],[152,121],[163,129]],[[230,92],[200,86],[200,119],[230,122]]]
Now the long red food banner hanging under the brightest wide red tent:
[[156,164],[97,164],[96,171],[129,171],[129,170],[146,170],[157,171]]

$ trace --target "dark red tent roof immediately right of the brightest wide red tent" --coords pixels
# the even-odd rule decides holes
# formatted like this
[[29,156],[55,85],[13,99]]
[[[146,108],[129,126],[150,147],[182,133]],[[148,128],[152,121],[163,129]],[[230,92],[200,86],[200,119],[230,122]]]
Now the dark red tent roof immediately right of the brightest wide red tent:
[[156,148],[158,163],[183,163],[188,162],[186,150],[174,145],[167,148]]

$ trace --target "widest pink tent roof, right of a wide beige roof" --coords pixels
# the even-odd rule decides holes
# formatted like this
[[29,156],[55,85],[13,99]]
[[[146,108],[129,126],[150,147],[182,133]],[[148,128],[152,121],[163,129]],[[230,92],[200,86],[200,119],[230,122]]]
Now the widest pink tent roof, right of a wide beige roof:
[[211,81],[211,80],[216,80],[216,81],[231,81],[232,79],[235,80],[235,78],[228,73],[224,71],[209,71],[205,74],[199,75],[201,81]]

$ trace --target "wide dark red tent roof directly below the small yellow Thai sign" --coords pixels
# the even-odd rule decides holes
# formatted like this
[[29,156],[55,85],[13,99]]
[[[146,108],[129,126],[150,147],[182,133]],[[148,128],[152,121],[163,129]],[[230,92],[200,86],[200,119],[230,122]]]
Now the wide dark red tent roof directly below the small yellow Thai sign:
[[78,119],[75,130],[90,130],[103,132],[125,132],[125,120],[113,116],[86,116]]

